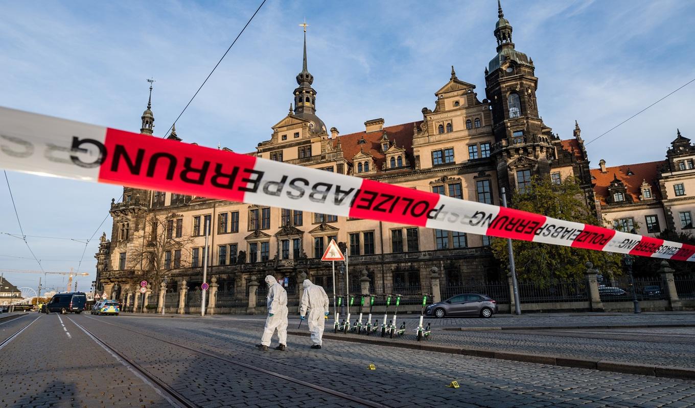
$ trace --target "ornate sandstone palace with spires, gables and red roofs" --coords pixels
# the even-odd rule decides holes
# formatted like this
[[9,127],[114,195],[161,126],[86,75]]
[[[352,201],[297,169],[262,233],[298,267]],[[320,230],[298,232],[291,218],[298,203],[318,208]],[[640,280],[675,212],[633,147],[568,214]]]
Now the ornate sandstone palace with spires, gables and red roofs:
[[[272,126],[270,139],[248,154],[491,204],[500,203],[502,187],[507,192],[524,189],[532,176],[557,181],[572,176],[586,193],[587,205],[595,206],[610,225],[646,223],[639,230],[644,233],[671,227],[676,217],[676,228],[687,228],[678,217],[684,219],[682,207],[692,201],[678,188],[695,192],[695,185],[682,181],[695,172],[695,148],[689,140],[679,135],[668,163],[601,164],[589,171],[579,125],[575,122],[571,139],[562,140],[543,123],[534,61],[516,49],[501,6],[493,33],[497,46],[485,69],[482,99],[475,85],[459,79],[452,67],[450,78],[443,78],[434,92],[432,107],[414,113],[409,123],[386,126],[384,119],[370,119],[363,131],[341,135],[318,117],[320,98],[309,73],[305,27],[293,104]],[[152,86],[149,90],[140,129],[145,135],[152,135],[154,126]],[[175,128],[168,138],[181,141]],[[626,221],[628,214],[632,221]],[[214,278],[221,310],[245,305],[268,274],[288,278],[291,296],[305,275],[331,292],[331,264],[320,261],[331,239],[349,257],[351,293],[359,293],[366,282],[375,294],[428,291],[432,273],[449,287],[506,279],[491,256],[489,237],[480,235],[129,187],[120,202],[112,201],[111,215],[111,237],[101,238],[95,255],[95,283],[108,298],[126,304],[138,301],[139,282],[148,280],[148,305],[161,303],[183,312],[186,296],[197,291],[199,302],[203,262],[208,282]],[[336,285],[341,287],[344,270],[342,262],[340,268],[336,265]]]

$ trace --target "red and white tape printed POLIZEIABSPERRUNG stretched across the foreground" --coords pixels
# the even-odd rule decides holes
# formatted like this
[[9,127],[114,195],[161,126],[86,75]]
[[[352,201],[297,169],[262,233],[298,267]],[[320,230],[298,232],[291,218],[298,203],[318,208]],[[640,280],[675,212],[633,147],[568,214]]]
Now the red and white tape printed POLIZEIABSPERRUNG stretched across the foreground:
[[695,261],[695,246],[139,133],[0,108],[0,168],[522,239]]

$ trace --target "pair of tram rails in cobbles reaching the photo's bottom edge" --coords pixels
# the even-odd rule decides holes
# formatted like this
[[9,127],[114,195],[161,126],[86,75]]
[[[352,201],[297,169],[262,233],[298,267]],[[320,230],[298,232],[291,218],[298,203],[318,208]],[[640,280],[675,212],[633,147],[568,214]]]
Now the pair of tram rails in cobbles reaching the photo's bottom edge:
[[[366,399],[364,399],[364,398],[359,398],[359,397],[357,397],[357,396],[352,396],[352,395],[350,395],[350,394],[343,393],[343,392],[341,392],[341,391],[336,391],[336,390],[334,390],[334,389],[329,389],[329,388],[327,388],[327,387],[325,387],[325,386],[320,386],[320,385],[318,385],[318,384],[313,384],[313,383],[311,383],[311,382],[306,382],[306,381],[303,381],[303,380],[298,380],[298,379],[293,378],[293,377],[290,377],[290,376],[288,376],[288,375],[284,375],[284,374],[281,374],[281,373],[276,373],[275,371],[270,371],[270,370],[268,370],[268,369],[266,369],[266,368],[261,368],[261,367],[258,367],[258,366],[253,366],[253,365],[247,364],[247,363],[245,363],[245,362],[240,362],[240,361],[238,361],[238,360],[236,360],[236,359],[232,359],[232,358],[230,358],[230,357],[227,357],[227,356],[224,356],[224,355],[220,355],[220,354],[217,354],[217,353],[214,353],[214,352],[208,352],[208,351],[204,351],[204,350],[199,350],[199,349],[196,349],[196,348],[192,348],[192,347],[183,345],[183,344],[181,344],[181,343],[177,343],[176,341],[170,341],[170,340],[167,340],[167,339],[161,339],[161,338],[159,338],[159,337],[153,336],[153,335],[150,334],[150,333],[140,332],[140,331],[138,331],[138,330],[133,330],[133,329],[131,329],[131,328],[126,328],[126,327],[124,327],[124,326],[122,326],[122,325],[117,325],[117,324],[114,324],[114,323],[111,323],[111,322],[107,322],[107,321],[103,321],[103,320],[101,320],[101,319],[93,318],[93,317],[90,317],[90,316],[85,316],[85,317],[86,317],[86,318],[90,318],[90,319],[95,320],[95,321],[99,321],[100,323],[105,323],[105,324],[108,324],[108,325],[113,325],[114,327],[120,328],[121,330],[126,330],[126,331],[128,331],[128,332],[132,332],[132,333],[135,333],[135,334],[140,334],[141,336],[147,337],[148,339],[152,339],[152,340],[156,340],[156,341],[161,341],[161,342],[167,343],[167,344],[169,344],[169,345],[171,345],[171,346],[175,346],[175,347],[181,348],[181,349],[183,349],[183,350],[187,350],[187,351],[189,351],[189,352],[194,352],[194,353],[196,353],[196,354],[198,354],[198,355],[204,355],[204,356],[206,356],[206,357],[210,357],[210,358],[213,358],[213,359],[217,359],[217,360],[219,360],[219,361],[221,361],[221,362],[225,362],[225,363],[228,363],[228,364],[234,364],[235,366],[239,366],[239,367],[242,367],[242,368],[246,368],[247,370],[254,371],[254,372],[256,372],[256,373],[261,373],[261,374],[264,374],[264,375],[268,375],[268,376],[270,376],[270,377],[275,377],[275,378],[277,378],[278,380],[282,380],[282,381],[284,381],[284,382],[291,382],[291,383],[293,383],[293,384],[296,384],[296,385],[299,385],[299,386],[302,386],[302,387],[305,387],[305,388],[308,388],[308,389],[313,389],[314,391],[318,391],[318,392],[320,392],[320,393],[325,393],[325,394],[327,394],[327,395],[329,395],[329,396],[333,396],[333,397],[335,397],[335,398],[340,398],[341,400],[345,400],[345,401],[349,401],[349,402],[354,402],[354,403],[357,403],[357,404],[362,405],[362,406],[364,406],[364,407],[370,407],[370,408],[391,408],[389,405],[384,405],[384,404],[381,404],[381,403],[379,403],[379,402],[374,402],[374,401],[371,401],[371,400],[366,400]],[[161,387],[161,389],[163,389],[165,392],[170,393],[170,395],[172,396],[172,398],[174,398],[175,400],[177,400],[178,402],[180,402],[181,404],[183,404],[184,407],[199,407],[199,405],[195,404],[195,402],[192,402],[192,401],[186,399],[184,396],[181,396],[180,393],[177,393],[177,391],[175,391],[175,390],[172,389],[170,386],[168,386],[167,384],[165,384],[164,382],[162,382],[161,380],[159,380],[158,378],[156,378],[154,375],[152,375],[151,373],[149,373],[145,368],[143,368],[142,366],[140,366],[139,364],[137,364],[136,362],[134,362],[132,359],[129,359],[128,357],[126,357],[122,352],[120,352],[119,350],[117,350],[116,348],[114,348],[113,346],[111,346],[110,344],[108,344],[108,343],[107,343],[106,341],[104,341],[103,339],[100,339],[96,334],[94,334],[94,332],[91,332],[90,330],[84,328],[82,325],[79,325],[79,323],[76,323],[72,318],[70,318],[70,321],[72,321],[72,323],[74,323],[74,325],[76,325],[78,328],[80,328],[81,330],[83,330],[85,333],[87,333],[88,335],[90,335],[90,337],[94,338],[95,341],[97,341],[97,342],[103,344],[106,348],[108,348],[108,350],[111,350],[111,352],[113,352],[115,355],[117,355],[118,357],[120,357],[121,359],[123,359],[123,360],[124,360],[125,362],[127,362],[129,365],[133,366],[133,368],[135,368],[138,372],[142,373],[142,375],[144,375],[145,377],[147,377],[148,380],[150,380],[150,381],[154,382],[155,384],[157,384],[157,386]]]

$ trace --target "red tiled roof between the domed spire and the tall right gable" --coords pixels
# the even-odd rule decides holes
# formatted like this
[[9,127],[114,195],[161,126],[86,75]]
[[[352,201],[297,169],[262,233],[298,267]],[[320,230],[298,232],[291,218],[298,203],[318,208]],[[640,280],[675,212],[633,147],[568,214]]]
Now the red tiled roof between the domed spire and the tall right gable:
[[[389,137],[391,145],[395,142],[398,147],[404,148],[408,153],[410,162],[413,162],[413,127],[420,126],[421,123],[423,122],[417,121],[395,126],[386,126],[382,131],[349,133],[347,135],[340,135],[338,138],[341,140],[343,155],[348,162],[352,162],[352,158],[359,153],[361,147],[364,153],[372,155],[378,171],[382,168],[382,164],[384,164],[384,152],[381,147],[381,140],[384,132],[386,132],[386,137]],[[357,142],[362,138],[366,140],[366,143],[358,144]],[[335,147],[337,144],[338,140],[334,139],[333,146]]]

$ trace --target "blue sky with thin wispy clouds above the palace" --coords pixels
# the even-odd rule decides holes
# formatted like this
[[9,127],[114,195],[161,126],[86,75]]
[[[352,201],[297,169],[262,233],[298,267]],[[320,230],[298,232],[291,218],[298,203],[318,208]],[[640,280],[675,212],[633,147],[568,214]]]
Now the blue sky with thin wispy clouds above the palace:
[[[258,1],[0,0],[0,106],[139,131],[154,78],[154,133],[162,136],[261,3]],[[546,125],[589,142],[695,78],[695,2],[503,0],[516,49],[539,78]],[[368,119],[422,119],[434,92],[460,80],[485,98],[496,55],[494,0],[268,0],[177,121],[184,142],[250,152],[283,119],[302,69],[306,19],[317,114],[341,134]],[[587,144],[591,167],[665,157],[680,128],[695,137],[695,83]],[[1,165],[1,163],[0,163]],[[1,167],[1,166],[0,166]],[[0,270],[87,272],[122,189],[7,172],[0,175]],[[106,220],[106,221],[104,221]],[[104,221],[103,224],[102,221]],[[54,237],[54,238],[44,238]],[[60,238],[60,239],[55,239]],[[5,273],[18,287],[42,274]],[[65,290],[67,277],[44,287]]]

